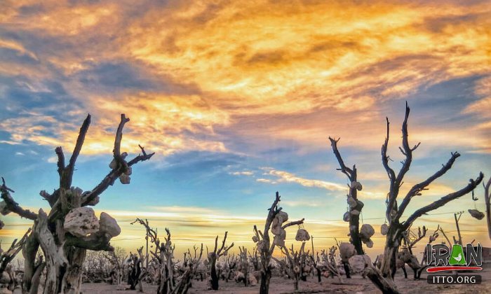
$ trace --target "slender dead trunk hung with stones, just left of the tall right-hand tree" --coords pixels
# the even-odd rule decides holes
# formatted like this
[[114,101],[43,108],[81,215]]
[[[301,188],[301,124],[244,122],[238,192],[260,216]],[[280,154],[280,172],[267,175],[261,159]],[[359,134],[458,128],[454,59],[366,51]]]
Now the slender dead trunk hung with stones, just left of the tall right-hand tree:
[[[353,168],[349,168],[344,165],[344,161],[337,149],[337,142],[339,139],[335,140],[329,137],[331,141],[332,151],[334,152],[337,162],[339,162],[339,169],[343,174],[345,174],[349,179],[349,194],[347,195],[347,202],[349,205],[349,211],[344,214],[344,221],[349,222],[349,241],[355,246],[356,254],[365,254],[363,252],[363,246],[361,244],[362,240],[360,237],[360,214],[361,209],[363,209],[363,202],[358,200],[358,190],[362,189],[361,183],[358,182],[356,174],[356,165]],[[349,273],[347,273],[349,276]]]

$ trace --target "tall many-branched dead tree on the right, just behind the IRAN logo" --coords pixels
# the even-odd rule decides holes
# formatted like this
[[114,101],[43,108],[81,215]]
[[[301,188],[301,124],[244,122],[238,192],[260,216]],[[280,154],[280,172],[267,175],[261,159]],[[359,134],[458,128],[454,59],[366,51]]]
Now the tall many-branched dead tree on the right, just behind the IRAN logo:
[[375,283],[377,287],[380,288],[384,293],[398,293],[394,282],[392,281],[392,272],[396,269],[396,258],[398,248],[401,245],[401,241],[403,239],[403,232],[408,230],[412,223],[424,214],[429,213],[429,211],[433,211],[438,209],[439,207],[443,207],[443,205],[447,204],[452,200],[456,200],[467,193],[470,193],[479,183],[483,180],[483,173],[480,173],[477,179],[471,179],[470,183],[458,190],[454,193],[450,193],[441,197],[440,200],[437,200],[431,204],[428,204],[420,209],[417,209],[413,212],[405,221],[401,221],[401,216],[403,216],[405,209],[408,207],[408,204],[412,200],[413,197],[422,195],[422,191],[428,190],[428,186],[433,183],[436,179],[443,176],[449,169],[452,168],[455,160],[460,157],[460,154],[455,152],[451,153],[450,159],[445,165],[435,172],[433,175],[429,176],[428,179],[417,183],[415,186],[412,186],[408,193],[403,198],[400,205],[398,205],[398,195],[399,189],[403,185],[403,179],[405,174],[409,171],[411,162],[412,162],[412,152],[416,150],[419,144],[416,144],[413,147],[410,147],[409,144],[409,133],[408,133],[408,118],[409,118],[410,109],[406,102],[405,107],[405,118],[403,121],[402,134],[403,134],[403,146],[399,148],[401,153],[405,156],[405,160],[403,160],[402,167],[398,174],[394,172],[389,166],[389,155],[387,155],[387,148],[389,146],[389,118],[386,118],[386,138],[385,142],[382,145],[382,165],[389,176],[389,193],[386,198],[386,219],[389,223],[388,232],[386,235],[386,243],[384,248],[384,258],[382,262],[381,271],[378,272],[375,267],[368,267],[367,276],[370,280]]

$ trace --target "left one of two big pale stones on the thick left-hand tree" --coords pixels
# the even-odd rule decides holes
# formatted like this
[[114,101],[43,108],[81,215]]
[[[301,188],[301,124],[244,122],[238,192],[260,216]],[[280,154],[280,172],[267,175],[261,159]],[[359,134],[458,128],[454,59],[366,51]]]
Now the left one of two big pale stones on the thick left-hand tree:
[[86,237],[99,230],[99,220],[90,207],[79,207],[65,216],[63,228],[76,237]]

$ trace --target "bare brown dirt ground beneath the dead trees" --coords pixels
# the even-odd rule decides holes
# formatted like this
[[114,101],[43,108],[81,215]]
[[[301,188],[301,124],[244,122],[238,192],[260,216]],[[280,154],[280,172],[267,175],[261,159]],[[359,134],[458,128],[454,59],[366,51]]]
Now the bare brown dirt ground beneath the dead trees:
[[[408,269],[410,276],[412,271]],[[430,285],[426,283],[426,274],[422,274],[422,279],[414,281],[408,276],[404,279],[403,273],[399,269],[396,275],[396,284],[401,293],[491,293],[491,264],[485,266],[483,272],[480,272],[483,281],[480,285]],[[337,279],[326,279],[323,277],[321,283],[317,282],[317,277],[309,277],[307,281],[300,281],[300,290],[297,293],[380,293],[368,279],[361,276],[354,276],[352,279],[343,279],[339,284]],[[144,293],[156,293],[156,286],[145,284]],[[293,281],[280,277],[273,277],[269,286],[269,293],[295,293],[293,291]],[[135,290],[116,290],[116,286],[105,283],[84,283],[82,286],[84,294],[104,293],[104,294],[121,294],[121,293],[138,293]],[[189,293],[234,293],[249,294],[259,293],[259,285],[245,288],[243,284],[234,281],[220,281],[220,290],[207,290],[206,281],[193,281],[193,288]]]

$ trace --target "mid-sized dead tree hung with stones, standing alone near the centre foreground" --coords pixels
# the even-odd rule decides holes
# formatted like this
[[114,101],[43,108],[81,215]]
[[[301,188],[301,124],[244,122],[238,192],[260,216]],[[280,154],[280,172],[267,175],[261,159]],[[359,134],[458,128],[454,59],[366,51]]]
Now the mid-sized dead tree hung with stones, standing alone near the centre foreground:
[[[266,218],[266,223],[264,223],[264,232],[257,230],[257,226],[254,225],[255,236],[253,237],[253,241],[257,243],[257,250],[260,251],[261,256],[260,294],[269,293],[269,280],[271,279],[271,265],[269,262],[271,262],[271,255],[273,255],[275,246],[278,245],[281,247],[285,245],[285,228],[288,228],[291,225],[300,225],[304,223],[304,218],[302,218],[300,221],[292,221],[291,223],[283,225],[283,222],[288,220],[288,214],[282,211],[283,208],[278,207],[279,202],[280,195],[276,192],[276,198],[268,209],[268,216]],[[270,229],[271,232],[273,232],[273,230],[275,231],[273,232],[275,235],[273,242],[269,239]]]

